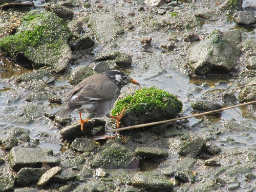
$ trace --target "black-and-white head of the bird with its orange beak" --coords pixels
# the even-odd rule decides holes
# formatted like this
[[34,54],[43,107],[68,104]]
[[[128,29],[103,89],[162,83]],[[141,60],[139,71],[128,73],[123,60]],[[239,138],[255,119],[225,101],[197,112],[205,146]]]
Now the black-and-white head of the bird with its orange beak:
[[132,79],[126,73],[119,70],[110,70],[103,73],[105,76],[109,77],[116,85],[121,89],[123,86],[129,83],[137,84],[140,86],[136,80]]

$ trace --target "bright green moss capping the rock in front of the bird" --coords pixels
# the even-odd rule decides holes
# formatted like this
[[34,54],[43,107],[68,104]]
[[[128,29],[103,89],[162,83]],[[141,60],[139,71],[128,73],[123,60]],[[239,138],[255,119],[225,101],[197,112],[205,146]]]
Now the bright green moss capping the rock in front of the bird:
[[181,112],[182,102],[173,94],[152,87],[143,88],[141,91],[136,91],[135,95],[119,100],[112,110],[112,115],[117,115],[124,107],[126,108],[126,113],[129,113],[129,111],[134,111],[135,113],[146,113],[155,110],[165,111],[169,110],[169,108],[177,108]]

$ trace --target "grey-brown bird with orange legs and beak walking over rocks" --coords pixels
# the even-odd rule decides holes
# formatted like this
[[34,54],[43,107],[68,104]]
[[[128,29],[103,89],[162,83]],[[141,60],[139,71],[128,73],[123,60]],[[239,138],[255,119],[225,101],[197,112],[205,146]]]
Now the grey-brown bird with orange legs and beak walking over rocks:
[[[80,117],[78,122],[81,123],[81,131],[83,131],[83,124],[91,118],[102,118],[104,116],[116,119],[118,128],[125,108],[117,116],[110,115],[110,110],[117,100],[121,88],[129,83],[140,86],[140,83],[119,70],[109,70],[91,75],[83,79],[70,91],[64,100],[66,105],[55,117],[65,118],[72,112],[78,111]],[[89,118],[83,120],[81,113],[89,113]]]

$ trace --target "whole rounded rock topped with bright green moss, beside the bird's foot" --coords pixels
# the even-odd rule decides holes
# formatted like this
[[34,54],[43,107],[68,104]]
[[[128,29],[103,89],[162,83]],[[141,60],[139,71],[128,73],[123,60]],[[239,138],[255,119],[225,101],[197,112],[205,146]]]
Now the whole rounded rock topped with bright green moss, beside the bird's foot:
[[116,103],[112,115],[117,115],[125,107],[121,126],[162,121],[175,118],[182,111],[182,102],[173,94],[156,87],[143,88],[133,96],[126,96]]

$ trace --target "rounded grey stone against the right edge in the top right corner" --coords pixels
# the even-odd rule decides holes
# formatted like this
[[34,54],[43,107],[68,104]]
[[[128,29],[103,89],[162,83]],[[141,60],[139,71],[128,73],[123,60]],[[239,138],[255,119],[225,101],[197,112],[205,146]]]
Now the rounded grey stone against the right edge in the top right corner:
[[256,23],[256,18],[252,12],[238,11],[234,13],[234,23],[242,26],[253,25]]

